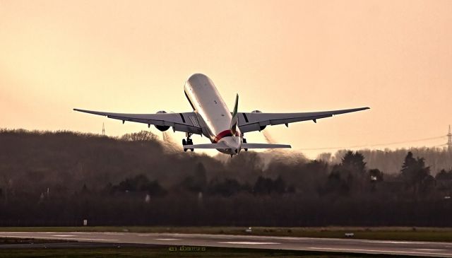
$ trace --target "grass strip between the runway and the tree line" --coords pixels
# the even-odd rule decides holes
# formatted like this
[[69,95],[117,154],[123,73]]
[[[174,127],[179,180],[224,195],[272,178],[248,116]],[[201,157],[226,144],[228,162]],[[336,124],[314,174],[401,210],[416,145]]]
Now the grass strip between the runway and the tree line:
[[228,235],[272,235],[306,238],[345,238],[345,233],[354,233],[353,238],[369,240],[412,240],[452,242],[452,228],[266,228],[254,227],[246,233],[242,227],[6,227],[0,231],[47,231],[47,232],[133,232],[133,233],[201,233]]

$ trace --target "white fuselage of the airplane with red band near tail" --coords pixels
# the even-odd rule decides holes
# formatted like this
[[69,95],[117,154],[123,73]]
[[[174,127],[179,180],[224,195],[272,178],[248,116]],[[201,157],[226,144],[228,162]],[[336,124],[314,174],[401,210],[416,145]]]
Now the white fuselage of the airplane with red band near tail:
[[217,88],[207,76],[193,74],[184,86],[186,98],[198,117],[203,135],[212,143],[225,143],[228,149],[218,149],[222,153],[237,154],[242,145],[239,129],[232,135],[230,126],[232,115]]

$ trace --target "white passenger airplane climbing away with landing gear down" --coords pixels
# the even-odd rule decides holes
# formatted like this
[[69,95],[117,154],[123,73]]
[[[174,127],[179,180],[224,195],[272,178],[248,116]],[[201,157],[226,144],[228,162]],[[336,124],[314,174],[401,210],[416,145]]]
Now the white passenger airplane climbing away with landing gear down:
[[[186,133],[186,139],[182,140],[184,151],[210,148],[232,157],[242,150],[248,151],[251,148],[291,148],[287,144],[247,143],[244,133],[249,131],[262,131],[268,125],[276,124],[285,124],[289,127],[290,123],[309,120],[316,123],[317,119],[369,109],[369,107],[359,107],[348,110],[297,113],[267,113],[259,110],[238,112],[239,95],[237,94],[234,110],[230,112],[213,81],[204,74],[191,75],[184,84],[184,92],[193,112],[158,111],[155,114],[122,114],[76,108],[73,110],[119,119],[123,124],[126,121],[138,122],[148,124],[148,128],[153,124],[160,131],[167,131],[172,127],[173,131]],[[194,144],[191,139],[193,134],[206,136],[211,143]]]

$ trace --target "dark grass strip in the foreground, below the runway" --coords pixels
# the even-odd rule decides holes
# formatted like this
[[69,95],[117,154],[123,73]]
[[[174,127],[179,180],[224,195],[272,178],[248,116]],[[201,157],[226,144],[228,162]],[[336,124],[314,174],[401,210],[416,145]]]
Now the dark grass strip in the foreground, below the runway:
[[[335,252],[307,252],[285,250],[257,250],[245,248],[206,247],[205,251],[170,251],[169,247],[124,247],[124,248],[73,248],[73,249],[40,249],[0,250],[0,257],[303,257],[303,258],[339,258],[339,257],[388,257],[387,254],[345,254]],[[403,257],[403,256],[391,256]]]

